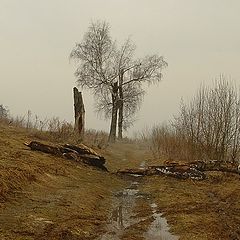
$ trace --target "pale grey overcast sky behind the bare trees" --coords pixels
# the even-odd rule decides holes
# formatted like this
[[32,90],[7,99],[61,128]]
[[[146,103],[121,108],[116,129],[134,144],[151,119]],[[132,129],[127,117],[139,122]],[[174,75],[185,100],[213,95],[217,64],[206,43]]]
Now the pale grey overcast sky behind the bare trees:
[[[138,57],[158,53],[169,66],[151,86],[131,132],[167,121],[201,82],[224,73],[240,84],[239,0],[0,0],[0,104],[13,115],[73,121],[76,85],[69,54],[92,20],[113,39],[131,36]],[[83,92],[87,128],[108,130]]]

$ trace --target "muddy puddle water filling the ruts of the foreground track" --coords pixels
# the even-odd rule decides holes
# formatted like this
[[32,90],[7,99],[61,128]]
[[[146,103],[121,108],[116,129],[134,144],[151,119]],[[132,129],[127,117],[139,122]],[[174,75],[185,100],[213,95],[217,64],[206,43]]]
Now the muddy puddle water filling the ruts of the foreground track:
[[[141,164],[141,167],[144,167],[144,163]],[[150,204],[150,197],[146,197],[146,195],[138,189],[141,178],[142,177],[136,175],[131,176],[132,182],[130,186],[115,194],[114,205],[116,207],[113,209],[106,226],[106,234],[101,236],[99,240],[120,240],[126,228],[146,219],[137,218],[133,213],[137,198],[144,196],[144,199]],[[162,217],[162,213],[157,212],[157,205],[151,203],[150,206],[152,216],[149,216],[149,218],[153,217],[154,220],[150,224],[147,232],[143,234],[143,237],[146,240],[177,240],[178,237],[169,232],[170,228],[166,219]]]

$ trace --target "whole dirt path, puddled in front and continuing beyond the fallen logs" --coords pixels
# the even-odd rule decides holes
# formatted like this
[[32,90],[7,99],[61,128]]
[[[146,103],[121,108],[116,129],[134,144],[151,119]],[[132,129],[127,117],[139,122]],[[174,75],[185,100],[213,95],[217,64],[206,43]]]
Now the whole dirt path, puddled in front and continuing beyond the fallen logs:
[[[129,148],[130,147],[130,148]],[[114,149],[115,153],[118,149]],[[129,167],[131,164],[144,168],[148,153],[136,146],[121,146],[118,163]],[[122,157],[122,158],[121,158]],[[98,240],[146,239],[146,240],[176,240],[178,237],[169,232],[167,221],[158,212],[152,196],[140,191],[144,177],[124,176],[128,186],[113,195],[113,209],[108,219],[106,233]]]

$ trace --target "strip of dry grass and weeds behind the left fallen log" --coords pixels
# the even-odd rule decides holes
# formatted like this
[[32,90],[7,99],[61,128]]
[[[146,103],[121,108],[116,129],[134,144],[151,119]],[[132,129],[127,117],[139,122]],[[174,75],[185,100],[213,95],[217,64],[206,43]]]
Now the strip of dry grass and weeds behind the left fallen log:
[[85,143],[90,147],[99,149],[108,145],[108,134],[104,131],[86,129],[84,139],[80,138],[74,129],[74,125],[67,121],[61,121],[58,117],[41,120],[37,115],[32,116],[28,111],[24,116],[5,116],[0,118],[0,124],[21,129],[38,140],[58,142],[58,143]]

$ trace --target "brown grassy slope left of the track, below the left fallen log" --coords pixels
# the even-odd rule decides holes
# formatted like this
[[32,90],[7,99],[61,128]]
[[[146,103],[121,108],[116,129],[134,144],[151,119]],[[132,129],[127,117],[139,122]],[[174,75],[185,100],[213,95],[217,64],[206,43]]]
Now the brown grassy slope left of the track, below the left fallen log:
[[[109,173],[30,151],[21,129],[0,126],[0,239],[92,239],[104,231],[112,191]],[[109,156],[111,157],[111,156]]]

